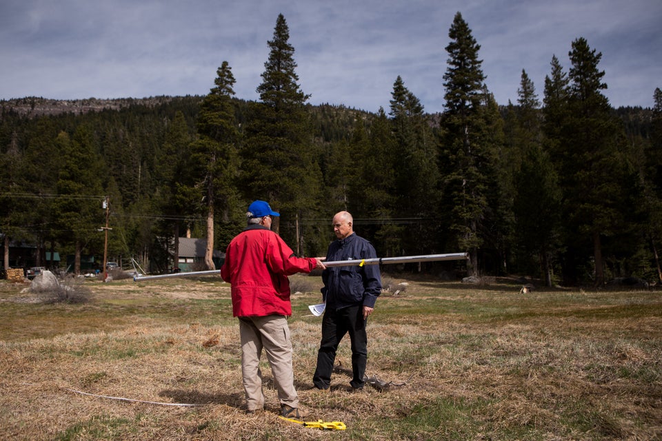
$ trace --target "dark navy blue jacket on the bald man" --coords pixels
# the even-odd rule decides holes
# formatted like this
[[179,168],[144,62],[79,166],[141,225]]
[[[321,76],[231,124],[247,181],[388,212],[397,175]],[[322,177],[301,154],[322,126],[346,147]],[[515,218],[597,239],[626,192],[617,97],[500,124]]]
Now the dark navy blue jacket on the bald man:
[[[372,243],[356,233],[334,240],[326,254],[328,262],[377,258]],[[340,309],[352,305],[374,308],[381,294],[379,265],[330,267],[322,271],[322,300],[327,308]]]

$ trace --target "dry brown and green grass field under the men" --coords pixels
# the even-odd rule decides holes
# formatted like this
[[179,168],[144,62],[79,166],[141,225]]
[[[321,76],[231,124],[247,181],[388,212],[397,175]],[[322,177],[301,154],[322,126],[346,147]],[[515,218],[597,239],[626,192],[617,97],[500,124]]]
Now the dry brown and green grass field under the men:
[[[401,277],[399,275],[398,277]],[[88,302],[44,302],[0,280],[5,440],[662,439],[662,293],[484,286],[416,278],[368,323],[368,376],[312,387],[319,277],[294,276],[294,376],[305,420],[244,412],[239,331],[220,278],[85,280]],[[350,366],[349,341],[339,361]],[[190,404],[168,405],[168,404]]]

